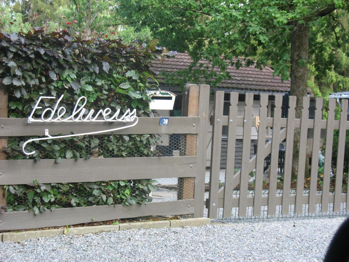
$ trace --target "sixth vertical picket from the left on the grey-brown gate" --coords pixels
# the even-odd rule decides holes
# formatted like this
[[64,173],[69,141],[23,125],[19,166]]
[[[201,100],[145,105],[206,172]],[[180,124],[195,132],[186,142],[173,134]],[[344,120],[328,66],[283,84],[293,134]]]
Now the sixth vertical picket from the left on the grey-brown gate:
[[284,179],[282,190],[282,209],[281,213],[287,215],[289,213],[289,198],[291,190],[291,175],[292,175],[292,156],[295,134],[295,116],[296,116],[296,96],[289,97],[289,109],[287,119],[287,135],[286,135],[286,152],[284,165]]

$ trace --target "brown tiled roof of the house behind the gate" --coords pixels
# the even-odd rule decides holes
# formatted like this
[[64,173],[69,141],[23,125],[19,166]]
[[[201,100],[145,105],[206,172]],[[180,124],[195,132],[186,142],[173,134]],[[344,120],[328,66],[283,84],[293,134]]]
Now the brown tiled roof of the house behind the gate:
[[[161,71],[175,73],[178,70],[188,68],[192,61],[188,53],[178,53],[175,57],[164,58],[163,61],[153,61],[152,69],[158,74],[157,79],[161,83],[164,82],[164,78],[159,75]],[[207,63],[207,61],[199,61],[199,63]],[[288,80],[282,82],[281,77],[274,77],[272,69],[264,67],[263,70],[259,70],[254,66],[245,67],[244,61],[242,61],[242,64],[243,66],[238,70],[234,66],[228,66],[227,71],[232,79],[223,80],[218,83],[217,87],[278,92],[290,90],[291,82]]]

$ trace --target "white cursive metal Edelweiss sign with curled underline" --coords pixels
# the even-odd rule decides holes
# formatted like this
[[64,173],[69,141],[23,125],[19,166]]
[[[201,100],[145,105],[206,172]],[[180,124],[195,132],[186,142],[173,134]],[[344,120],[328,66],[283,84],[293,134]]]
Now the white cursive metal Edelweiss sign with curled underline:
[[[76,100],[73,111],[67,117],[64,117],[66,113],[66,108],[63,106],[59,107],[59,103],[63,99],[63,95],[61,95],[57,100],[57,102],[55,103],[53,109],[45,108],[41,114],[41,118],[33,118],[33,115],[35,114],[35,110],[42,109],[42,107],[39,106],[39,103],[42,99],[45,99],[45,98],[56,99],[56,97],[53,97],[53,96],[40,96],[33,110],[31,111],[31,114],[28,118],[28,123],[31,123],[31,122],[124,122],[124,123],[133,122],[133,123],[130,125],[121,126],[113,129],[100,130],[100,131],[94,131],[89,133],[69,134],[65,136],[50,136],[49,130],[45,129],[46,137],[34,138],[34,139],[29,139],[28,141],[25,141],[25,143],[22,146],[22,151],[26,155],[32,155],[35,153],[35,151],[26,152],[24,149],[25,146],[32,141],[64,138],[64,137],[86,136],[89,134],[111,132],[111,131],[129,128],[131,126],[135,126],[138,123],[138,117],[136,116],[136,109],[133,109],[132,111],[130,109],[127,109],[126,112],[121,116],[120,116],[120,109],[117,109],[116,112],[112,113],[112,110],[109,107],[105,109],[99,109],[98,111],[91,109],[90,111],[88,111],[87,114],[85,114],[87,112],[87,109],[85,108],[85,105],[87,103],[87,98],[84,96],[81,96],[78,100]],[[80,103],[81,105],[79,105]]]

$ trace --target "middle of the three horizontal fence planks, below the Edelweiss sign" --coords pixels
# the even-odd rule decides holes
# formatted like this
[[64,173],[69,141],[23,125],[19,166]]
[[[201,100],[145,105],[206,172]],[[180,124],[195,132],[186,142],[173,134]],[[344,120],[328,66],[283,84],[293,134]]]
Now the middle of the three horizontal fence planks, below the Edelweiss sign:
[[197,157],[0,160],[0,184],[74,183],[196,176]]

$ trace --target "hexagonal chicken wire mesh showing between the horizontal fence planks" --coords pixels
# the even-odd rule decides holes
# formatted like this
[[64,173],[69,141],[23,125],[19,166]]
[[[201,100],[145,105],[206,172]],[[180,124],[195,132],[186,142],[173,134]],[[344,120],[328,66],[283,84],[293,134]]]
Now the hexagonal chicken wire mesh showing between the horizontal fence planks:
[[[193,134],[129,134],[127,136],[112,134],[48,139],[44,143],[40,141],[40,143],[29,144],[28,150],[34,150],[36,153],[26,156],[21,150],[24,141],[28,139],[28,137],[8,138],[8,159],[56,159],[56,162],[60,162],[64,158],[176,157],[196,154],[196,135]],[[157,174],[157,177],[159,176],[161,174]],[[32,203],[35,201],[40,203],[36,205],[37,210],[34,209],[39,213],[55,208],[106,204],[128,205],[190,199],[194,196],[194,178],[191,177],[160,179],[149,177],[142,180],[63,184],[39,184],[39,182],[34,181],[34,184],[30,185],[9,185],[7,194],[9,211],[32,210],[34,206]],[[40,192],[32,196],[29,195],[32,194],[31,191]],[[58,194],[53,194],[57,191]],[[45,203],[48,204],[45,205]],[[132,221],[132,219],[128,220]]]

